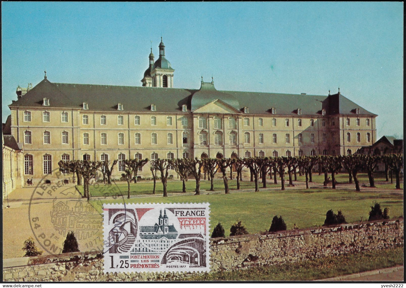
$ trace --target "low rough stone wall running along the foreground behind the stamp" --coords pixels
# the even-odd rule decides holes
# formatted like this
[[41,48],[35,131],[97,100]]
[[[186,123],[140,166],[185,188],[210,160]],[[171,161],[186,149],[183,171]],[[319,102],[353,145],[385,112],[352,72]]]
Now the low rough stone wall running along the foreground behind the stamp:
[[[274,265],[404,245],[403,219],[212,239],[212,271]],[[372,260],[372,259],[371,259]],[[147,281],[188,273],[103,273],[103,256],[66,253],[3,260],[4,281]]]

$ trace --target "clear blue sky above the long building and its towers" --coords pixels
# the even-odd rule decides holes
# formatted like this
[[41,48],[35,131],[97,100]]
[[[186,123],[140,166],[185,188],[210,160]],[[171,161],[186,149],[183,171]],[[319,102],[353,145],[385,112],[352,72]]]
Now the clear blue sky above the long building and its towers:
[[140,86],[160,36],[174,86],[326,95],[403,137],[401,2],[2,2],[2,121],[17,85]]

